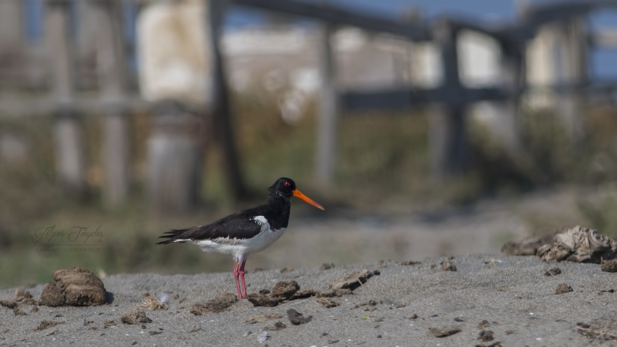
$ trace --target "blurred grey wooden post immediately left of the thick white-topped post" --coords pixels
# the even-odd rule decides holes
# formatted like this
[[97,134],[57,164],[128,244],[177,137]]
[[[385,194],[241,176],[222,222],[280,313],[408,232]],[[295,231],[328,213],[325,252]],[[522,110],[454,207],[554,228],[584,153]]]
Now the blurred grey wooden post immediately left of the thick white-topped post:
[[130,184],[121,12],[117,7],[119,4],[110,0],[88,1],[83,5],[88,6],[85,24],[96,28],[91,34],[96,41],[97,76],[104,104],[101,157],[105,183],[102,197],[107,206],[113,207],[126,201]]

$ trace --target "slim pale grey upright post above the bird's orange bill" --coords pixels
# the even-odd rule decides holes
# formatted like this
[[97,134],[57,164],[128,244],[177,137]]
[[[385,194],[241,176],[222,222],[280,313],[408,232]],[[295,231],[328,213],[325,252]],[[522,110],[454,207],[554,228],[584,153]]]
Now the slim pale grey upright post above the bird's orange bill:
[[320,73],[321,88],[317,123],[317,179],[322,186],[332,184],[336,161],[336,123],[338,120],[338,91],[336,62],[331,44],[333,25],[324,23],[321,30]]

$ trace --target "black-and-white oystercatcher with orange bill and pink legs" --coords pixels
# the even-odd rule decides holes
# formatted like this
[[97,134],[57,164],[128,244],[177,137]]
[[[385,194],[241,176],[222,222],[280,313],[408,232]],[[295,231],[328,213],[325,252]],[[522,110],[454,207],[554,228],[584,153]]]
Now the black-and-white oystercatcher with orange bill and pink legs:
[[[289,198],[297,196],[309,204],[324,209],[306,195],[296,189],[296,183],[289,178],[281,177],[270,186],[268,202],[265,205],[240,211],[209,225],[192,227],[165,232],[168,238],[157,243],[165,245],[174,242],[191,242],[201,247],[204,252],[231,254],[236,261],[233,269],[238,298],[246,298],[244,284],[244,264],[249,254],[263,251],[283,235],[289,222]],[[240,284],[242,283],[242,290]]]

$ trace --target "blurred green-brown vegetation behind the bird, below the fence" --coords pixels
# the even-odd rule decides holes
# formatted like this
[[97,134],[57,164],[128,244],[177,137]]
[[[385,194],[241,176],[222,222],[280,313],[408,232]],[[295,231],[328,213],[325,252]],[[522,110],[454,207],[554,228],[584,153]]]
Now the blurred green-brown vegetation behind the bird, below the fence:
[[[612,107],[586,111],[590,134],[572,146],[555,114],[524,112],[523,149],[511,157],[473,123],[471,169],[465,177],[434,184],[428,170],[428,114],[412,112],[355,112],[342,115],[338,127],[336,188],[324,191],[313,183],[315,161],[315,104],[294,125],[285,123],[275,96],[267,93],[234,96],[236,136],[242,170],[252,190],[265,194],[280,176],[294,178],[300,190],[334,211],[357,213],[407,212],[414,206],[470,204],[486,196],[516,196],[550,185],[605,185],[617,174],[617,112]],[[102,169],[100,118],[85,115],[88,157],[88,197],[62,191],[54,179],[50,117],[3,120],[0,130],[17,132],[31,145],[31,160],[0,166],[0,288],[51,279],[55,269],[84,266],[100,274],[126,272],[191,273],[224,269],[226,256],[204,257],[197,247],[155,245],[169,228],[201,225],[238,208],[262,203],[263,198],[234,206],[228,198],[222,157],[207,145],[201,207],[184,215],[149,211],[143,198],[144,158],[149,117],[133,120],[133,172],[130,200],[116,209],[101,206]],[[602,201],[579,204],[580,224],[617,235],[617,190]],[[302,213],[294,208],[292,214]],[[541,223],[540,223],[541,224]],[[33,243],[34,230],[51,227],[102,226],[98,252],[44,252]]]

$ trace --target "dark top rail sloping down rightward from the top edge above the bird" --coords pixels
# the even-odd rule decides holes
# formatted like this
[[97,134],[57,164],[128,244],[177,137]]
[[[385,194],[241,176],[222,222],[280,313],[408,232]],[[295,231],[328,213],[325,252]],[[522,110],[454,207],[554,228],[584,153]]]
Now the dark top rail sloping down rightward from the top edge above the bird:
[[404,36],[414,41],[429,40],[426,27],[417,23],[410,23],[362,14],[344,10],[339,7],[323,4],[300,2],[296,0],[232,0],[234,4],[257,7],[263,10],[283,12],[289,15],[309,17],[334,25],[350,25],[370,31],[390,33]]

